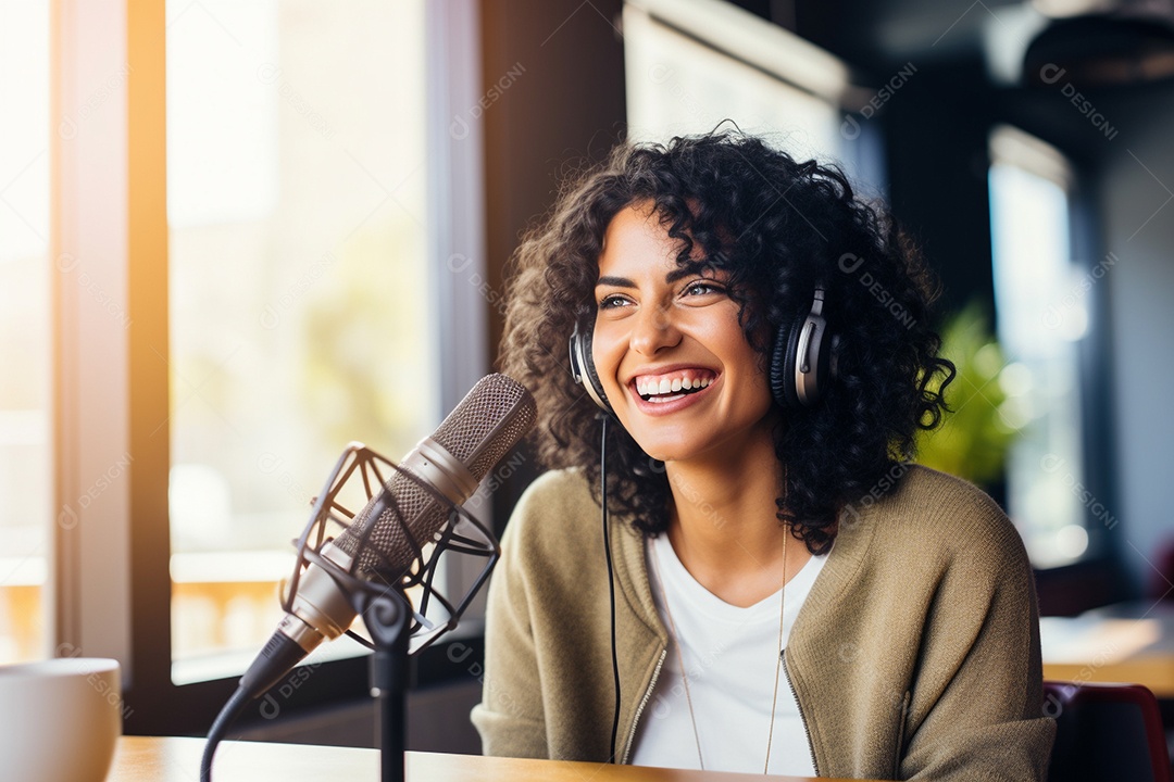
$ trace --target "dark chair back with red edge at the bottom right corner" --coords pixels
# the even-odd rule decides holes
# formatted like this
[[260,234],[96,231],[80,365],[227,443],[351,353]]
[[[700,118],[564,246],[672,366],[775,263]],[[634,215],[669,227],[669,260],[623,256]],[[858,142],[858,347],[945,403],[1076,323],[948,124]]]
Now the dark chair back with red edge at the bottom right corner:
[[1048,782],[1168,782],[1158,699],[1141,685],[1044,682],[1055,719]]

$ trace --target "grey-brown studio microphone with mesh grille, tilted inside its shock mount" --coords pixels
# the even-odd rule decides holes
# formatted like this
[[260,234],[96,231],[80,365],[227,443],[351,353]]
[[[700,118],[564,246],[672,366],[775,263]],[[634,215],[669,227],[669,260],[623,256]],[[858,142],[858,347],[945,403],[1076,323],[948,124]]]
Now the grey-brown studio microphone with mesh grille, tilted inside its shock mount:
[[[456,505],[534,426],[534,399],[506,375],[483,378],[400,462],[349,526],[319,550],[343,571],[366,582],[396,585],[433,542]],[[289,608],[238,691],[258,698],[323,640],[346,632],[356,611],[349,594],[317,564],[297,583]]]

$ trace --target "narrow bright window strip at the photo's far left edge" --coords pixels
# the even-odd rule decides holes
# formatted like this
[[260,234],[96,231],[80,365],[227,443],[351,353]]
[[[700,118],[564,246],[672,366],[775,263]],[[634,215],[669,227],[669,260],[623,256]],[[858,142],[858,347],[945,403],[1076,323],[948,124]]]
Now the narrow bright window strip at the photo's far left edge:
[[[0,664],[48,652],[49,4],[0,1]],[[61,519],[72,523],[70,517]]]

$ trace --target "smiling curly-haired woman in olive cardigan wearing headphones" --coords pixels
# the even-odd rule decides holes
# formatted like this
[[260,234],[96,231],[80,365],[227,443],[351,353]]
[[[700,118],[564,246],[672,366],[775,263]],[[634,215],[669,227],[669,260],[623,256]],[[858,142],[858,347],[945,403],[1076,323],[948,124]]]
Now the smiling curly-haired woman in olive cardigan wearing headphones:
[[905,464],[953,367],[879,209],[755,137],[629,144],[514,260],[502,366],[555,469],[491,585],[486,753],[1043,778],[1031,569]]

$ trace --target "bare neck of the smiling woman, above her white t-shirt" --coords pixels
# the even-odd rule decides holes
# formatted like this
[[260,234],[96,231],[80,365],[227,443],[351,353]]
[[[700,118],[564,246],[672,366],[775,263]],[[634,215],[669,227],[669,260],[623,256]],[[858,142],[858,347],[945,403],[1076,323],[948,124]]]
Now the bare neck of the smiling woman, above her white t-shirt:
[[[748,606],[778,591],[783,539],[775,499],[783,468],[769,436],[704,463],[666,464],[673,508],[669,542],[686,570],[731,605]],[[787,578],[810,558],[802,542],[787,543]]]

